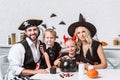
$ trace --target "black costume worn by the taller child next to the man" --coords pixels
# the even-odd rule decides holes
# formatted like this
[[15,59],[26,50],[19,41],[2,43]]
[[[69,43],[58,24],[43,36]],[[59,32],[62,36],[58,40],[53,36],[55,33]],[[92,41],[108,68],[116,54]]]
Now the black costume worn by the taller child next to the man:
[[[43,47],[45,49],[45,51],[48,53],[49,55],[49,59],[50,59],[50,64],[51,66],[54,65],[54,61],[59,57],[59,52],[61,51],[61,46],[59,43],[54,42],[54,46],[53,47],[48,47],[45,43],[43,44]],[[41,65],[44,65],[43,68],[47,68],[47,64],[45,62],[45,59],[43,59],[41,61]]]

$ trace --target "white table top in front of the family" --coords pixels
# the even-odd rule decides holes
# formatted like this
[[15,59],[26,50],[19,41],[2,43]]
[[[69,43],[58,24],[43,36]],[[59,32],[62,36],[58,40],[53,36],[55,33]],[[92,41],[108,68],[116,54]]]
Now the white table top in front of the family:
[[120,76],[120,69],[97,69],[98,70],[98,77],[95,79],[89,78],[86,74],[80,75],[78,72],[73,72],[69,74],[74,74],[70,77],[60,77],[60,74],[64,72],[60,72],[57,70],[57,74],[36,74],[31,77],[33,80],[115,80],[119,79]]

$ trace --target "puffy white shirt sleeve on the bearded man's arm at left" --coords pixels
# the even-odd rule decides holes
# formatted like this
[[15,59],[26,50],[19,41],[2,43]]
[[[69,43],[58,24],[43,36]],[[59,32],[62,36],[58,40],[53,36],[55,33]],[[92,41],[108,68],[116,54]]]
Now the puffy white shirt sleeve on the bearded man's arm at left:
[[8,54],[9,69],[11,69],[14,75],[19,75],[24,69],[24,54],[25,50],[22,44],[18,43],[11,47]]

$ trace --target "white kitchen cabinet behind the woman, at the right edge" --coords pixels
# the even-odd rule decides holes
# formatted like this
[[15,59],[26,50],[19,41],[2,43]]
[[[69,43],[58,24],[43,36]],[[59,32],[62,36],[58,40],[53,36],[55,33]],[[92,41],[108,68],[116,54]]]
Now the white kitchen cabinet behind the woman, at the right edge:
[[120,46],[104,46],[103,49],[109,65],[114,69],[120,68]]

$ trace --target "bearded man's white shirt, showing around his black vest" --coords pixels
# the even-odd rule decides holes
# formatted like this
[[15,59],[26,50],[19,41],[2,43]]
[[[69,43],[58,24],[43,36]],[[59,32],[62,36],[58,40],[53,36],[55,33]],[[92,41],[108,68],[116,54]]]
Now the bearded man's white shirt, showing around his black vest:
[[[34,61],[37,62],[40,58],[40,52],[39,52],[39,44],[40,41],[37,41],[37,46],[33,44],[33,42],[26,38],[28,45],[31,48]],[[24,69],[22,66],[24,64],[24,58],[25,58],[25,49],[24,46],[21,43],[14,44],[8,54],[8,61],[9,61],[9,69],[8,69],[8,78],[14,77],[14,75],[19,75],[21,71]]]

